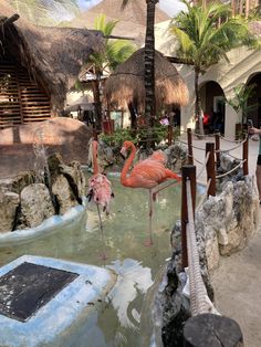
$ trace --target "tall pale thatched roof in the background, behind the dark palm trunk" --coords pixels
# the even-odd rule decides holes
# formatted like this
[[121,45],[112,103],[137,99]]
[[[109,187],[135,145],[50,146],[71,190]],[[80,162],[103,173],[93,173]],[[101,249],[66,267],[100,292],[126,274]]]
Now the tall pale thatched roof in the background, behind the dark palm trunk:
[[[119,21],[113,30],[114,35],[130,36],[139,46],[144,44],[147,17],[145,0],[132,0],[125,9],[122,9],[122,0],[103,0],[74,18],[70,24],[75,28],[94,28],[94,21],[98,14],[105,14],[108,21]],[[156,6],[155,23],[168,19],[169,15]]]

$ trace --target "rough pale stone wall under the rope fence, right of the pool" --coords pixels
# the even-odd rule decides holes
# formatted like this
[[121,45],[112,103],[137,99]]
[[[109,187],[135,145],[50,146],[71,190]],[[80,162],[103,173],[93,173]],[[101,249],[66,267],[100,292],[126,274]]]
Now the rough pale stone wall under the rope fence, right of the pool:
[[[230,255],[248,244],[257,228],[259,199],[252,177],[223,182],[221,193],[209,199],[196,211],[196,236],[201,275],[208,296],[215,293],[210,275],[219,265],[220,256]],[[161,303],[161,338],[164,346],[182,346],[182,326],[190,316],[188,298],[182,294],[186,274],[181,272],[181,224],[171,233],[173,255],[158,291]]]

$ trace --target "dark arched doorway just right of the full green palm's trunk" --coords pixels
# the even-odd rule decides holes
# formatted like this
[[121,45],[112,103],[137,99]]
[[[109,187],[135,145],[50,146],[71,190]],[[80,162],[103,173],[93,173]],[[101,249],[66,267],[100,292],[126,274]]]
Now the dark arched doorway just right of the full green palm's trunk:
[[203,114],[209,116],[208,124],[205,124],[205,133],[223,134],[226,117],[223,90],[217,82],[208,81],[200,85],[199,96]]

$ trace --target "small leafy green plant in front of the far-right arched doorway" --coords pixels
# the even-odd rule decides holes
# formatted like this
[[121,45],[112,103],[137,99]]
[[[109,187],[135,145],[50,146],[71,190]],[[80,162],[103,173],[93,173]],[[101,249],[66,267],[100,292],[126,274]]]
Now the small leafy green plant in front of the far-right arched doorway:
[[241,124],[247,123],[248,114],[258,107],[258,104],[249,105],[249,98],[254,94],[255,84],[247,85],[244,83],[238,84],[233,87],[233,97],[226,98],[236,113],[238,114]]

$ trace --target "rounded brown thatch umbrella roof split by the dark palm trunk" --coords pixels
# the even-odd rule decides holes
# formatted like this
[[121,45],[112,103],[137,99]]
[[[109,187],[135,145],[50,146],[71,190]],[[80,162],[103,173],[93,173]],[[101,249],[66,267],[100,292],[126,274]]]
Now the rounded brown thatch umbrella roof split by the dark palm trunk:
[[[144,49],[136,51],[107,78],[104,86],[105,101],[115,106],[145,106]],[[185,106],[188,103],[188,88],[176,67],[164,55],[155,51],[155,98],[156,111],[166,106]]]

